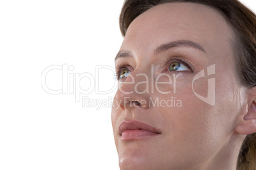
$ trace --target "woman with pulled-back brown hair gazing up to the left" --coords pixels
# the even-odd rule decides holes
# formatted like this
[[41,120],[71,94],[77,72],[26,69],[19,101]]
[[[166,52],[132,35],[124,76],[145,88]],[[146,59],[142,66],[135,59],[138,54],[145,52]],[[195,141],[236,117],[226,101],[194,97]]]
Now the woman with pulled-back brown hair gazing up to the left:
[[255,169],[256,18],[236,0],[127,0],[120,169]]

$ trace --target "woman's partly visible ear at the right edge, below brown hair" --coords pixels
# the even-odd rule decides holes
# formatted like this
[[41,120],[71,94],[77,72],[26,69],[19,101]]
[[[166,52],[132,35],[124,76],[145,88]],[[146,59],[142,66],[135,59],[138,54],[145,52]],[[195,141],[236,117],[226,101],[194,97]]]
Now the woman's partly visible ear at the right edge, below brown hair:
[[256,132],[256,86],[248,89],[246,113],[239,116],[238,126],[235,131],[239,134],[252,134]]

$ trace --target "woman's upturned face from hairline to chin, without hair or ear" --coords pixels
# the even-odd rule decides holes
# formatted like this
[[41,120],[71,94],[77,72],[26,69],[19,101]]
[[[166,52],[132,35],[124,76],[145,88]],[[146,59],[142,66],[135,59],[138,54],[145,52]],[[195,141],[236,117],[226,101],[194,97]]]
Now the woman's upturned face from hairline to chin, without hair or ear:
[[131,23],[111,114],[121,169],[199,169],[229,156],[241,108],[232,37],[201,4],[162,4]]

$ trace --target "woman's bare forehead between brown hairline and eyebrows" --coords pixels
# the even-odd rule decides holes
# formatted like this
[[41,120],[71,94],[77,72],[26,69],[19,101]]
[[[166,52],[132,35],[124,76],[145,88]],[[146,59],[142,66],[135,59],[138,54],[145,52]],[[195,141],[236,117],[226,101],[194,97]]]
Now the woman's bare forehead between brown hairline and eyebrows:
[[214,51],[213,46],[230,48],[232,29],[222,14],[196,3],[160,4],[142,13],[127,29],[122,47],[153,49],[169,41],[196,41]]

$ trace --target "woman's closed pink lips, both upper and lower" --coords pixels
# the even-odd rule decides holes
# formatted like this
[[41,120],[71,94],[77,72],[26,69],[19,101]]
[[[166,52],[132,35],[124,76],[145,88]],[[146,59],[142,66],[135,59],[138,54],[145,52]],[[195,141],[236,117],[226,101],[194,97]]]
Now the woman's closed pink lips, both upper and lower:
[[159,135],[159,129],[139,121],[122,121],[118,132],[122,140],[137,140]]

